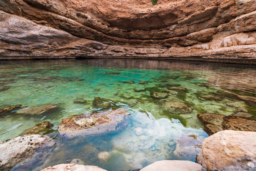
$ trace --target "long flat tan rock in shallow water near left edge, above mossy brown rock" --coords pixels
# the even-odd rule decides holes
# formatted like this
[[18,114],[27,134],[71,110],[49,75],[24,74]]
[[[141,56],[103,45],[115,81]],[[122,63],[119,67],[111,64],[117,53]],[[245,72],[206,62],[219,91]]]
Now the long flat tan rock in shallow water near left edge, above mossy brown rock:
[[55,112],[58,108],[59,106],[56,104],[48,104],[48,105],[24,108],[20,111],[16,111],[15,114],[23,114],[23,115],[49,114],[50,112]]

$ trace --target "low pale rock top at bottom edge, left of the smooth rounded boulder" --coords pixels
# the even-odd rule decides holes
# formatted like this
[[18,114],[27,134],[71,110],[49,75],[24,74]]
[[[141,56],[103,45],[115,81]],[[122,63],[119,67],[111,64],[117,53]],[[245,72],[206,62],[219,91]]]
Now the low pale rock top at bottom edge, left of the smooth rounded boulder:
[[97,166],[85,166],[78,164],[58,164],[47,167],[41,171],[107,171]]

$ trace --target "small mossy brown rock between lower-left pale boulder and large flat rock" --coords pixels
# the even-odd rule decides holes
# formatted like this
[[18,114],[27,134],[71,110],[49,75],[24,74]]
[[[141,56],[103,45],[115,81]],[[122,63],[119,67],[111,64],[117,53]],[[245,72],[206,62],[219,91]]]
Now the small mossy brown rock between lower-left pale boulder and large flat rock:
[[36,124],[32,128],[27,129],[25,132],[20,134],[19,136],[23,135],[31,135],[31,134],[49,134],[50,132],[53,132],[54,125],[50,122],[41,122],[39,124]]

